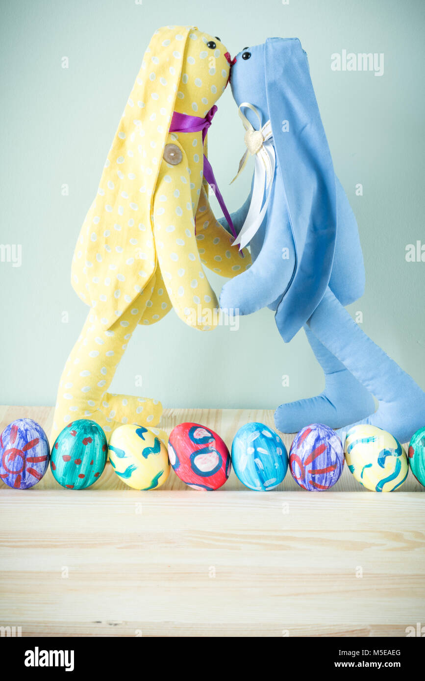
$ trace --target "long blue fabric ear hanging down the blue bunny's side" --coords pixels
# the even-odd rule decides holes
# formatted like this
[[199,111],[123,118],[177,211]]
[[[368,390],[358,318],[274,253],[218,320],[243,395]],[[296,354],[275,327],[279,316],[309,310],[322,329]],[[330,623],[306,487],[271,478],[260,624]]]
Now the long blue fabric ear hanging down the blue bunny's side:
[[264,53],[274,148],[296,247],[292,281],[276,312],[288,342],[328,286],[336,240],[334,168],[309,63],[298,38],[269,38]]

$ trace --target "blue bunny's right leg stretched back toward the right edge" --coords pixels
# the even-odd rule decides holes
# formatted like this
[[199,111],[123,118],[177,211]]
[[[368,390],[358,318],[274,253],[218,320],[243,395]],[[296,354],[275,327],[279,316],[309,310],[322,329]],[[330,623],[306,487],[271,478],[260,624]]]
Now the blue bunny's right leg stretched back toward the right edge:
[[362,332],[339,300],[326,289],[307,324],[315,336],[333,353],[378,400],[371,416],[351,423],[347,419],[341,437],[353,425],[371,424],[388,430],[401,443],[425,422],[425,393],[394,360]]

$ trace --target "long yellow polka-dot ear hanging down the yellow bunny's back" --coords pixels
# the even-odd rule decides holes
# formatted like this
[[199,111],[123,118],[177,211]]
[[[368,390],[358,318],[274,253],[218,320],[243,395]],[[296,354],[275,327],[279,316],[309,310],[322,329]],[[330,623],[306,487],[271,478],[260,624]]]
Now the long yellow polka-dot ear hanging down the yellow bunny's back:
[[153,35],[72,261],[72,285],[112,326],[155,271],[153,195],[191,27]]

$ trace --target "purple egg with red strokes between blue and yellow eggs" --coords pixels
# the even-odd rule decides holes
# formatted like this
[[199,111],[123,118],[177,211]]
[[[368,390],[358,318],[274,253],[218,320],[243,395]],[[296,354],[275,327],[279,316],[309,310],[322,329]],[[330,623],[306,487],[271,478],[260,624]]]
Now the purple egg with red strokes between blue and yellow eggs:
[[343,443],[329,426],[306,426],[296,435],[289,449],[289,468],[304,490],[328,490],[343,472]]

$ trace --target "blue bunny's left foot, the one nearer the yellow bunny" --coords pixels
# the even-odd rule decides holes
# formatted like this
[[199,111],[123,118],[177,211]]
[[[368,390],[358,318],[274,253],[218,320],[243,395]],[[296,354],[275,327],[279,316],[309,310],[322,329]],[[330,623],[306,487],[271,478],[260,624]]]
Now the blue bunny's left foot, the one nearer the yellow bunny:
[[314,423],[341,428],[374,411],[371,393],[347,369],[342,369],[326,375],[326,388],[320,395],[278,407],[274,424],[281,432],[298,432]]

